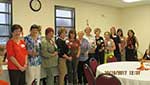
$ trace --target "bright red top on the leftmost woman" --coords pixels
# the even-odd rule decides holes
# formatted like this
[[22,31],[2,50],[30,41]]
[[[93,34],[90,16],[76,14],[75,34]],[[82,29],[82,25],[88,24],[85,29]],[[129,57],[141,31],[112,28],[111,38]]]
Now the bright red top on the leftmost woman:
[[18,67],[13,64],[10,60],[10,57],[14,57],[21,66],[25,65],[25,60],[27,57],[27,50],[24,40],[20,40],[17,44],[12,39],[7,42],[7,59],[8,59],[8,69],[9,70],[19,70]]

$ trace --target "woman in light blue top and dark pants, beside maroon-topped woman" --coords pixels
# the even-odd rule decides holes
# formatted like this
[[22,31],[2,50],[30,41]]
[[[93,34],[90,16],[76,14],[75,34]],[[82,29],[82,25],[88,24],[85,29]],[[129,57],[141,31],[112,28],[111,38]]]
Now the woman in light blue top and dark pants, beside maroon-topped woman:
[[88,51],[90,49],[88,40],[83,38],[83,36],[84,36],[84,32],[79,31],[78,40],[80,42],[80,55],[78,58],[78,69],[77,69],[79,85],[83,85],[83,83],[84,85],[86,85],[87,83],[87,80],[84,75],[83,65],[88,63]]

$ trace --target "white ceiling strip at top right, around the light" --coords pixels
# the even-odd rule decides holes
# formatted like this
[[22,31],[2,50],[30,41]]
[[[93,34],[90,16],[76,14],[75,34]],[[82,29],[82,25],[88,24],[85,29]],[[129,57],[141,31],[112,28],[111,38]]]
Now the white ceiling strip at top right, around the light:
[[134,3],[125,3],[122,0],[80,0],[88,3],[94,3],[98,5],[107,5],[107,6],[113,6],[113,7],[133,7],[138,5],[150,5],[150,0],[142,0],[139,2]]

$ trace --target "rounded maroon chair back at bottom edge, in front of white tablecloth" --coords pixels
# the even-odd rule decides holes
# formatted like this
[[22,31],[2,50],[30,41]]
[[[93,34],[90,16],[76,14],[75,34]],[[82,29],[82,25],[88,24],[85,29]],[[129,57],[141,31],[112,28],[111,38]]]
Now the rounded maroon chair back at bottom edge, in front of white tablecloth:
[[96,80],[96,85],[121,85],[120,80],[110,73],[100,74]]

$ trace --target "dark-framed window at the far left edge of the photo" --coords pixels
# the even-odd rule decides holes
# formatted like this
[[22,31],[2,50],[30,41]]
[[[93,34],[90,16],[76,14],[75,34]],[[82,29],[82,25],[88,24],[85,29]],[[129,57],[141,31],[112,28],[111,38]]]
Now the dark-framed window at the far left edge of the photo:
[[0,44],[6,44],[11,28],[11,0],[0,1]]

